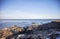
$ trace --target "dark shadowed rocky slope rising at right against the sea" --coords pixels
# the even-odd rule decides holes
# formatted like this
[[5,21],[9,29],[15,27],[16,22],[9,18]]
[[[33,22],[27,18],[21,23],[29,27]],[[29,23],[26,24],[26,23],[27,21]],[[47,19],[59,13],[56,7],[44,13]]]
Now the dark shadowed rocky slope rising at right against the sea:
[[49,29],[60,30],[60,22],[52,21],[50,23],[40,25],[38,27],[38,29],[40,29],[40,30],[49,30]]

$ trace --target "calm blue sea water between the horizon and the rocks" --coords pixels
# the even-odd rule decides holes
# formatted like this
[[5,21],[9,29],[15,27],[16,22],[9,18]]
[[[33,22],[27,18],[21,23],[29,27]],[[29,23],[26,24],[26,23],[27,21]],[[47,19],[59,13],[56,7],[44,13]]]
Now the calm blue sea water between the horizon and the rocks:
[[10,27],[12,25],[17,25],[20,27],[30,26],[32,22],[36,24],[49,23],[56,19],[0,19],[0,29],[5,27]]

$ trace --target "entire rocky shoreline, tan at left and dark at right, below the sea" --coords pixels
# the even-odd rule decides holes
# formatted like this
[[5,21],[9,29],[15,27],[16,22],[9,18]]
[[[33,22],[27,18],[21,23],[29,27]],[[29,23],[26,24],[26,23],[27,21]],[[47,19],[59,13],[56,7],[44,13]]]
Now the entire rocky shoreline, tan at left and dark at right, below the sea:
[[[20,37],[22,39],[45,39],[44,33],[47,35],[49,35],[49,33],[55,35],[56,31],[60,31],[60,20],[43,25],[32,23],[31,26],[23,28],[13,25],[12,27],[0,30],[0,39],[20,39]],[[54,39],[53,37],[53,35],[52,37],[50,36],[51,39]]]

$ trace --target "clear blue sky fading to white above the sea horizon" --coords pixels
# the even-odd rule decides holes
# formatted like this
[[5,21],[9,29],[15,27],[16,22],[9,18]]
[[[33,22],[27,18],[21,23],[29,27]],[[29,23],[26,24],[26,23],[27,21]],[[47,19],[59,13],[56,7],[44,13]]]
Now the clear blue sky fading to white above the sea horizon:
[[58,0],[0,0],[0,19],[60,19]]

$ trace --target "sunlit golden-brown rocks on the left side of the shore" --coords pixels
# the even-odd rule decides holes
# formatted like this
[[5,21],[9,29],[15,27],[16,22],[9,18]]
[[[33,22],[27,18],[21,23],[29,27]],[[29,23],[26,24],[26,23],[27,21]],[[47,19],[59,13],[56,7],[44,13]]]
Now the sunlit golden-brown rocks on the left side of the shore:
[[0,30],[0,39],[6,39],[7,36],[12,36],[14,33],[18,33],[23,31],[24,29],[22,27],[17,27],[16,25],[13,25],[9,28],[4,28]]

